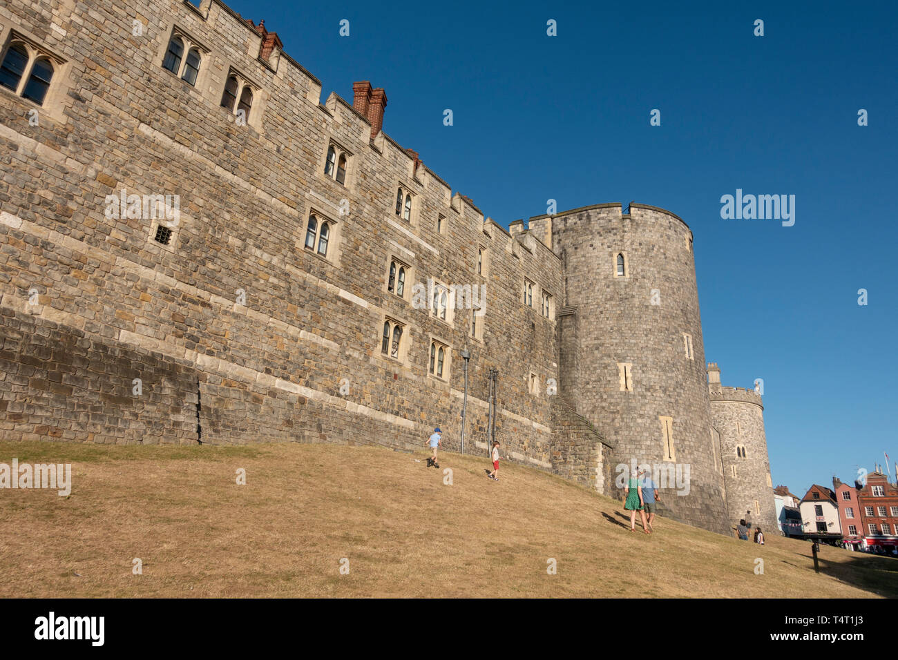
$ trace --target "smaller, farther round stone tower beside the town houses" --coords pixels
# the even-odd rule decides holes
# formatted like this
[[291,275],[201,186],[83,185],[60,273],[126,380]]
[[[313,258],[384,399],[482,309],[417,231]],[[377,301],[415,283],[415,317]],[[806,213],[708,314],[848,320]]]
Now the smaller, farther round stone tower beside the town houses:
[[714,362],[708,365],[708,390],[711,415],[720,434],[730,524],[744,518],[765,534],[775,532],[776,506],[761,394],[720,384],[720,368]]

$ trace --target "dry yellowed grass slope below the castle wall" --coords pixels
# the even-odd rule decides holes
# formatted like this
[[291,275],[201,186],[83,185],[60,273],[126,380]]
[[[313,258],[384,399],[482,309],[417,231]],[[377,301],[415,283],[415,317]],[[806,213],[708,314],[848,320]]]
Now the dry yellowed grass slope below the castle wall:
[[0,490],[0,597],[898,595],[896,559],[824,547],[815,575],[804,541],[630,533],[619,502],[471,456],[442,456],[452,486],[370,446],[0,443],[13,457],[71,462],[74,488]]

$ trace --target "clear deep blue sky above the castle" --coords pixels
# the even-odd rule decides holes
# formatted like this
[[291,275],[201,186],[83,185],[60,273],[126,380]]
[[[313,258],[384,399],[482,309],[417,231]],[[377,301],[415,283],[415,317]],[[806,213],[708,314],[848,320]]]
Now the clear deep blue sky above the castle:
[[[549,198],[681,216],[707,359],[726,384],[764,380],[774,484],[800,497],[898,459],[898,4],[230,5],[322,101],[383,87],[386,133],[500,224]],[[737,188],[795,195],[795,225],[721,219]]]

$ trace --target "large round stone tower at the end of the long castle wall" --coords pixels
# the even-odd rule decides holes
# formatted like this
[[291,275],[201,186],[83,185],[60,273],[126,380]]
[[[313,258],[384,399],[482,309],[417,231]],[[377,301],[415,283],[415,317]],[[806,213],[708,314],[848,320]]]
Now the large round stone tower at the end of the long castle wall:
[[621,464],[646,463],[663,515],[729,533],[689,227],[633,203],[551,216],[550,231],[565,274],[559,395],[613,445],[605,493],[620,494]]

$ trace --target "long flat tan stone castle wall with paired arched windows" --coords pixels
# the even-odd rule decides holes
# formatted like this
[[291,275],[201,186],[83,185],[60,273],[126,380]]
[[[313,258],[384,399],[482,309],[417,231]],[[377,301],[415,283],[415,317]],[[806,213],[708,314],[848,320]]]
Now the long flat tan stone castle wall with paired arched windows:
[[[132,34],[133,20],[143,35]],[[321,84],[277,48],[260,59],[259,32],[224,4],[15,2],[0,8],[0,29],[3,43],[14,30],[66,60],[54,83],[64,98],[39,109],[38,125],[33,103],[0,92],[4,309],[58,319],[101,354],[192,365],[201,419],[190,432],[213,444],[409,446],[440,426],[457,448],[467,347],[469,441],[486,439],[496,367],[497,436],[550,469],[546,383],[558,377],[558,350],[538,296],[560,290],[560,261],[541,242],[512,239],[400,145],[372,139],[348,101],[331,94],[321,104]],[[175,29],[204,48],[196,86],[162,66]],[[231,71],[255,88],[245,126],[220,106]],[[331,143],[350,154],[345,186],[323,173]],[[399,186],[415,197],[410,222],[394,212]],[[107,196],[122,190],[180,197],[171,246],[154,242],[152,218],[107,215]],[[327,258],[304,249],[313,213],[331,224]],[[392,258],[409,267],[404,299],[387,291]],[[537,286],[533,308],[522,304],[524,277]],[[479,338],[470,337],[471,310],[447,322],[414,306],[412,286],[428,278],[486,285]],[[28,302],[32,290],[39,305]],[[399,360],[382,354],[385,318],[405,323]],[[444,378],[428,374],[432,339],[448,348]],[[27,356],[16,348],[8,359]],[[142,372],[136,358],[133,367],[110,376],[130,381]],[[155,378],[147,369],[145,392],[160,386]],[[60,416],[92,392],[75,390],[53,400]],[[22,392],[7,380],[0,397]],[[119,406],[102,441],[154,441],[145,403]],[[4,437],[44,419],[33,413]]]

